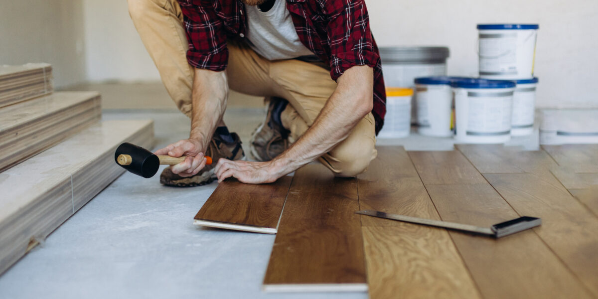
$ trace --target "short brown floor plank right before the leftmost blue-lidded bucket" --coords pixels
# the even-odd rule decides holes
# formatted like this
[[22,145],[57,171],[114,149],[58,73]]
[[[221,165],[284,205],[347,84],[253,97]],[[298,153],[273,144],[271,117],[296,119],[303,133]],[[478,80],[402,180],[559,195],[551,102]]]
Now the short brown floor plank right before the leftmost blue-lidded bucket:
[[410,151],[423,184],[486,184],[486,179],[459,151]]

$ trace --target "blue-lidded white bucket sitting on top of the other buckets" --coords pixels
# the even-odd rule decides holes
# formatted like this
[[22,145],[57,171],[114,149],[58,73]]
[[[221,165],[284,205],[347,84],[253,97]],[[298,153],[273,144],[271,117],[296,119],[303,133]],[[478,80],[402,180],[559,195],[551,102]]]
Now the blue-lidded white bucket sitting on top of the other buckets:
[[537,24],[478,25],[480,77],[532,78],[538,28]]

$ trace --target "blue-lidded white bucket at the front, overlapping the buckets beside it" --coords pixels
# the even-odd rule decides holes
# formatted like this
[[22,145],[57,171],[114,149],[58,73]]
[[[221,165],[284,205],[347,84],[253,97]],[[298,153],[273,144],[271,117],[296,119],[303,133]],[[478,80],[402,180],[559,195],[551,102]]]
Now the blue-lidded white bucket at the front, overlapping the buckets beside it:
[[513,81],[470,79],[451,86],[457,142],[499,144],[511,139]]

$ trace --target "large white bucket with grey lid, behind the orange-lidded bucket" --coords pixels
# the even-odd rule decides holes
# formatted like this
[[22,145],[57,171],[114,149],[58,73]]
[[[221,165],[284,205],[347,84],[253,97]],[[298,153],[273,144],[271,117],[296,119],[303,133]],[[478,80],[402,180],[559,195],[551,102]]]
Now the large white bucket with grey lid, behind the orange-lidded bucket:
[[[417,77],[446,76],[447,47],[381,47],[380,59],[386,86],[414,87]],[[417,106],[411,103],[411,123],[416,123]]]

